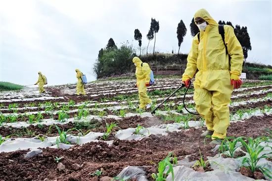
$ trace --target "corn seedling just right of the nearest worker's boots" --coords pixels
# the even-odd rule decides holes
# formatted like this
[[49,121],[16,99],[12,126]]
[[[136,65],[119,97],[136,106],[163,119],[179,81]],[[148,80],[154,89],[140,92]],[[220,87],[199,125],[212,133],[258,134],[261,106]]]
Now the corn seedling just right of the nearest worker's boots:
[[[233,139],[233,140],[230,141],[230,139]],[[234,153],[235,153],[236,149],[238,148],[238,147],[236,147],[236,144],[239,140],[240,140],[240,138],[236,138],[236,139],[232,138],[232,137],[226,138],[222,142],[222,144],[220,145],[219,151],[222,153],[228,151],[225,153],[225,155],[229,158],[234,158]]]

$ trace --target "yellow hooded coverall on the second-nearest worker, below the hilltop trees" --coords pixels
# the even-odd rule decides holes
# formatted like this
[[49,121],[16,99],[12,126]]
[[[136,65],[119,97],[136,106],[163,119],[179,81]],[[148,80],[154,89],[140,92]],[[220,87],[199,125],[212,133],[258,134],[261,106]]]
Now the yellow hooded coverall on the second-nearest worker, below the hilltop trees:
[[[137,87],[138,87],[138,94],[140,99],[140,109],[145,109],[146,105],[151,103],[151,100],[147,96],[147,87],[145,83],[149,83],[150,81],[150,68],[147,63],[143,63],[138,57],[133,58],[133,63],[136,64],[136,78],[137,78]],[[142,64],[142,66],[141,66]]]

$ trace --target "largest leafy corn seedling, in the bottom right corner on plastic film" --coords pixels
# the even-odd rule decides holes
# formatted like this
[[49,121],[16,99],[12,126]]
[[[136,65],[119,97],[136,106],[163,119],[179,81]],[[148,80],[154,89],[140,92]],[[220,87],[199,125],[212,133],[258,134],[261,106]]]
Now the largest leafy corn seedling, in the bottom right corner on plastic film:
[[[257,138],[259,139],[259,138]],[[261,152],[264,150],[265,146],[260,145],[260,140],[257,140],[254,142],[254,140],[248,140],[248,143],[246,143],[243,139],[240,139],[240,142],[242,145],[246,148],[246,151],[249,154],[249,157],[245,157],[242,161],[242,165],[244,167],[247,167],[251,170],[252,173],[256,172],[257,170],[260,170],[263,172],[264,175],[266,175],[268,178],[272,179],[272,172],[263,167],[263,166],[257,166],[258,162],[262,158],[269,158],[268,155],[272,154],[270,153],[264,153],[262,155]],[[254,145],[254,146],[252,146]],[[247,165],[245,165],[245,163]]]

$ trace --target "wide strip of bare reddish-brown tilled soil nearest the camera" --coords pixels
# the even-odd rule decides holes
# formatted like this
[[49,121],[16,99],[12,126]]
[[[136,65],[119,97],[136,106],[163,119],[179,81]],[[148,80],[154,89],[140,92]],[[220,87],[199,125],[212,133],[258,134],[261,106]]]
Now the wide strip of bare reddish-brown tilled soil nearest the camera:
[[[245,122],[231,123],[227,136],[268,136],[266,129],[272,129],[272,115],[262,118],[252,117]],[[191,155],[190,160],[199,159],[201,150],[204,159],[214,156],[211,151],[215,145],[209,144],[199,135],[205,128],[190,128],[181,132],[169,133],[168,136],[150,135],[141,141],[114,140],[109,146],[104,142],[92,142],[76,145],[68,150],[44,148],[43,153],[30,159],[24,158],[27,152],[14,151],[0,153],[0,181],[98,181],[90,174],[97,169],[103,169],[103,176],[115,177],[128,165],[149,166],[145,169],[148,179],[156,171],[156,163],[162,160],[170,151],[177,157]],[[54,161],[62,157],[61,164]]]

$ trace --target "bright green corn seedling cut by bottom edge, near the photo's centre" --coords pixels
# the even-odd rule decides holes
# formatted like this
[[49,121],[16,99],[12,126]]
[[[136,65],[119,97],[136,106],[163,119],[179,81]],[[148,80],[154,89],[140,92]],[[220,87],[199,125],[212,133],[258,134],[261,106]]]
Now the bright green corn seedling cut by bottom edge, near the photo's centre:
[[[165,159],[159,162],[158,165],[158,173],[153,173],[151,177],[155,181],[166,181],[167,176],[171,173],[172,175],[172,181],[174,181],[174,170],[173,165],[171,162],[173,162],[174,165],[177,164],[178,159],[176,156],[172,157],[173,153],[169,153]],[[166,169],[168,170],[166,171]]]

